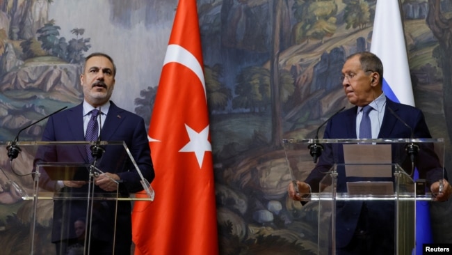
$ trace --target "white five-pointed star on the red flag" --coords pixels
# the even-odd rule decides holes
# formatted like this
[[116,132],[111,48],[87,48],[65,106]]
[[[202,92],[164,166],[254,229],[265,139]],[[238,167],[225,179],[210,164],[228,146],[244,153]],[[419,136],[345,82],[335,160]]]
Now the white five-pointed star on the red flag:
[[209,125],[204,127],[201,132],[196,132],[191,127],[185,124],[188,137],[190,141],[179,150],[180,153],[195,153],[197,164],[202,168],[202,161],[204,160],[204,153],[206,151],[212,151],[211,144],[209,142]]

